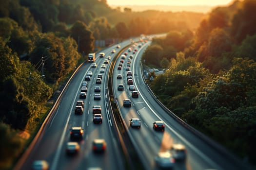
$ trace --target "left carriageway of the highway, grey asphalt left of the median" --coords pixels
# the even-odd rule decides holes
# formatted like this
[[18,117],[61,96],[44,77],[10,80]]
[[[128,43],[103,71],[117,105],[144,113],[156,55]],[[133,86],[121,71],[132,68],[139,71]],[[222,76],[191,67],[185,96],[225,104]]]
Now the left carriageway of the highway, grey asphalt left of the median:
[[[120,43],[125,46],[130,41]],[[107,93],[108,64],[106,64],[105,72],[100,73],[100,65],[103,64],[106,56],[112,56],[110,62],[114,58],[115,53],[120,49],[116,47],[107,48],[100,52],[105,52],[105,57],[99,58],[99,53],[96,53],[97,68],[91,68],[91,63],[84,63],[76,72],[72,80],[64,90],[57,109],[52,113],[43,127],[35,146],[25,158],[24,162],[16,167],[17,170],[31,170],[35,160],[46,160],[50,170],[87,170],[90,168],[101,168],[102,170],[124,170],[124,160],[121,153],[121,148],[118,145],[118,138],[113,133],[115,128],[111,120],[108,118],[105,95]],[[75,115],[76,102],[79,99],[81,82],[85,81],[85,75],[88,71],[93,72],[93,76],[88,82],[88,91],[84,101],[84,111],[82,115]],[[102,74],[102,84],[96,85],[98,74]],[[101,100],[95,101],[94,87],[101,87]],[[103,120],[101,124],[93,123],[92,107],[93,105],[101,105]],[[66,155],[66,143],[71,141],[70,128],[82,127],[84,129],[83,139],[79,141],[80,152],[78,155]],[[105,153],[93,153],[92,142],[96,138],[103,138],[107,143]]]

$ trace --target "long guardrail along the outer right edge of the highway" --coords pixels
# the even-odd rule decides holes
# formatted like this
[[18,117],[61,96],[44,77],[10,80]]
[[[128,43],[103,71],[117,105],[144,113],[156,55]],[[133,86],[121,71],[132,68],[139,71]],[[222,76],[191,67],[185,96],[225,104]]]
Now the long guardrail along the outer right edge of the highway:
[[[140,62],[140,67],[141,67],[141,74],[143,74],[143,65]],[[150,92],[151,96],[153,97],[153,99],[158,102],[158,104],[166,111],[166,113],[168,113],[171,117],[173,117],[174,119],[177,120],[177,122],[179,124],[181,124],[183,127],[185,127],[186,129],[188,129],[190,132],[192,132],[193,134],[195,134],[197,137],[200,137],[201,140],[204,140],[210,147],[216,149],[218,152],[220,152],[222,155],[225,155],[225,157],[227,159],[229,159],[230,161],[234,162],[234,164],[236,164],[237,169],[238,170],[251,170],[252,168],[249,166],[246,166],[245,163],[241,163],[241,160],[236,157],[234,154],[231,154],[226,148],[224,148],[223,146],[221,146],[220,144],[218,144],[217,142],[215,142],[214,140],[212,140],[211,138],[209,138],[208,136],[205,136],[204,134],[202,134],[201,132],[197,131],[195,128],[193,128],[192,126],[190,126],[189,124],[187,124],[184,120],[180,119],[179,117],[177,117],[177,115],[175,115],[171,110],[169,110],[162,102],[160,102],[157,98],[157,96],[155,95],[155,93],[151,90],[150,86],[147,84],[147,82],[144,79],[144,76],[142,77],[148,91]],[[243,165],[242,165],[243,164]]]

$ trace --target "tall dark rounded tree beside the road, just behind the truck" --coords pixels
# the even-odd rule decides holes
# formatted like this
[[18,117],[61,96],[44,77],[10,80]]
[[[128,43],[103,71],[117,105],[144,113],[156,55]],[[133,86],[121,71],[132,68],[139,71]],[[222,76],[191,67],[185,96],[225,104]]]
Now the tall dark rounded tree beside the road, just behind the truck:
[[71,37],[78,43],[79,52],[94,51],[94,37],[92,32],[81,21],[77,21],[70,29]]

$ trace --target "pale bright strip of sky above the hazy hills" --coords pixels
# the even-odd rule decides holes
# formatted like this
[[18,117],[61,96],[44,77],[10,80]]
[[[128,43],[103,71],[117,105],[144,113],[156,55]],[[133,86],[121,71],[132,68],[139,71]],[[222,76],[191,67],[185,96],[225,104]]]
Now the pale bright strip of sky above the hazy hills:
[[107,0],[109,5],[174,5],[174,6],[190,6],[190,5],[207,5],[218,6],[227,5],[233,0]]

